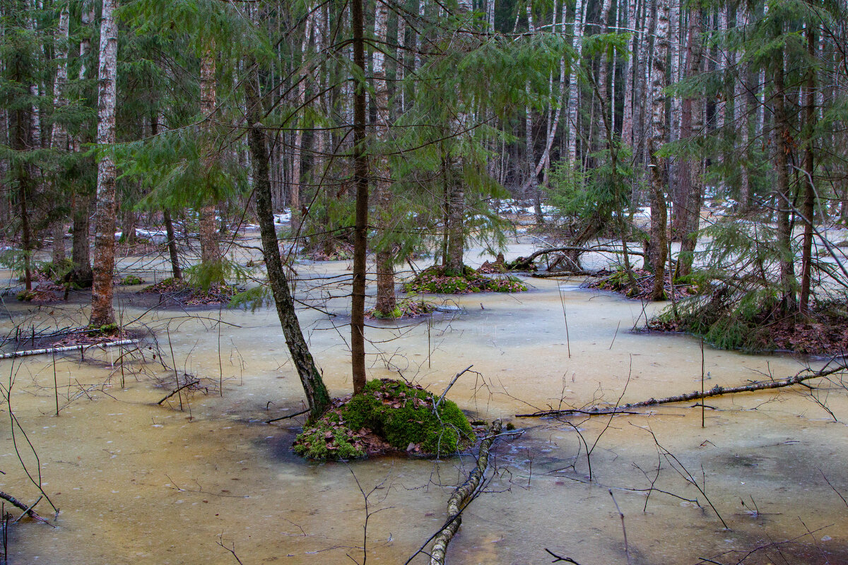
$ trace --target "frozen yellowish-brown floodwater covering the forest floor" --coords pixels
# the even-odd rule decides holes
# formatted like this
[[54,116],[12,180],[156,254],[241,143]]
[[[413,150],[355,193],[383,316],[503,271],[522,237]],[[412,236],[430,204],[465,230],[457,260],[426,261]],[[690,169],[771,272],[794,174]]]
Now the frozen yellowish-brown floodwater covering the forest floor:
[[[346,269],[323,263],[299,265],[298,273]],[[401,374],[442,391],[473,365],[477,374],[463,375],[449,396],[523,432],[496,444],[494,478],[466,510],[450,562],[551,562],[547,548],[583,565],[628,557],[735,563],[758,547],[745,563],[848,562],[848,505],[837,494],[848,497],[844,389],[817,392],[833,416],[806,389],[709,399],[704,428],[700,408],[689,405],[592,420],[513,418],[700,389],[699,341],[630,332],[656,306],[584,291],[577,280],[528,282],[533,291],[450,297],[459,312],[399,328],[374,323],[367,332],[375,341],[371,377]],[[299,288],[313,298],[346,292]],[[351,387],[345,307],[346,299],[327,298],[321,309],[337,316],[299,312],[334,395]],[[3,332],[24,316],[24,307],[8,308],[13,319],[4,316]],[[156,331],[169,366],[208,379],[209,393],[183,397],[183,411],[176,397],[158,406],[174,374],[152,350],[148,363],[123,371],[110,364],[118,350],[88,352],[84,362],[68,354],[55,363],[57,417],[52,358],[0,362],[0,382],[13,382],[14,442],[61,509],[56,528],[22,521],[10,530],[10,562],[235,563],[229,549],[246,564],[349,563],[365,560],[365,545],[368,562],[403,563],[444,522],[445,501],[471,457],[304,463],[290,451],[297,421],[264,424],[302,402],[270,309],[148,312],[126,299],[120,309]],[[73,305],[34,314],[42,324],[83,319]],[[215,324],[219,316],[234,325]],[[706,387],[789,376],[804,363],[706,347]],[[35,501],[8,406],[0,421],[0,490]],[[37,509],[51,514],[46,501]]]

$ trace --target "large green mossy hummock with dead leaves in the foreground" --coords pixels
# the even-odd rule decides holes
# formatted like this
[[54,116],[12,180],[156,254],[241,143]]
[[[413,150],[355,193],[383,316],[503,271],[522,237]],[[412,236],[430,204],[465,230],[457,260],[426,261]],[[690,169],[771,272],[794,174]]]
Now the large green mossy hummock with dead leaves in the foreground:
[[348,459],[367,453],[410,451],[444,455],[471,443],[471,424],[454,402],[438,403],[420,386],[371,380],[362,394],[337,401],[294,441],[311,459]]

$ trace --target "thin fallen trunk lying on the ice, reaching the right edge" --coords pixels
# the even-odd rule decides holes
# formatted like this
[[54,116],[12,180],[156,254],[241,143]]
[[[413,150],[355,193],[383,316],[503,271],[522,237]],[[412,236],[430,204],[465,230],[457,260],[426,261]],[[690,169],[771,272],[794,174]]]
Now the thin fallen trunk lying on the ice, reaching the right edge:
[[845,365],[840,365],[835,368],[823,368],[819,371],[812,372],[810,374],[806,374],[806,371],[801,371],[799,374],[795,374],[793,377],[789,377],[787,379],[780,380],[765,380],[765,381],[756,381],[752,382],[748,385],[739,385],[739,386],[730,386],[723,387],[716,385],[712,387],[709,391],[692,391],[686,394],[678,395],[678,396],[667,396],[666,398],[649,398],[648,400],[644,400],[642,402],[630,402],[628,404],[622,404],[621,406],[615,407],[603,407],[603,406],[592,406],[587,408],[566,408],[562,410],[539,410],[538,412],[529,413],[529,414],[516,414],[516,418],[542,418],[546,416],[569,416],[572,414],[616,414],[616,413],[627,413],[631,411],[633,408],[639,407],[648,407],[648,406],[656,406],[658,404],[671,404],[672,402],[688,402],[692,400],[702,400],[704,398],[709,398],[711,396],[722,396],[728,394],[735,394],[737,392],[754,392],[754,391],[767,391],[769,389],[779,389],[784,388],[785,386],[792,385],[801,385],[805,380],[810,379],[820,379],[822,377],[826,377],[830,374],[839,373],[840,371],[845,371]]

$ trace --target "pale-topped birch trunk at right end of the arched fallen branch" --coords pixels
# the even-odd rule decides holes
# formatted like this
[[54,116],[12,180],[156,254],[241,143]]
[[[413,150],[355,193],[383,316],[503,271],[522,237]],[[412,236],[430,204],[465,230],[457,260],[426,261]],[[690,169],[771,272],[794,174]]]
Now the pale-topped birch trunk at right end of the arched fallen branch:
[[651,71],[651,136],[648,140],[650,158],[650,258],[654,270],[652,300],[665,297],[663,275],[668,253],[667,210],[665,193],[666,159],[659,151],[666,140],[666,60],[668,57],[668,0],[656,3],[656,47]]

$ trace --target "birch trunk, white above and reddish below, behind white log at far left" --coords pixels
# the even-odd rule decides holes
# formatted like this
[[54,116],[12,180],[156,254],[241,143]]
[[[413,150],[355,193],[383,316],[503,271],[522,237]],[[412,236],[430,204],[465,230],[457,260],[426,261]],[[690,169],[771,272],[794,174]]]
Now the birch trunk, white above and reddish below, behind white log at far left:
[[[100,63],[98,65],[98,146],[115,141],[115,95],[118,66],[118,26],[114,20],[117,0],[103,0],[100,22]],[[116,170],[109,153],[98,162],[98,203],[94,213],[94,279],[92,313],[88,324],[101,328],[114,324],[112,307],[114,275],[114,226]]]

